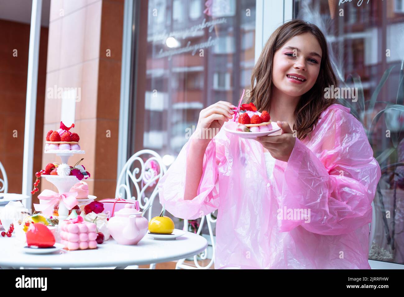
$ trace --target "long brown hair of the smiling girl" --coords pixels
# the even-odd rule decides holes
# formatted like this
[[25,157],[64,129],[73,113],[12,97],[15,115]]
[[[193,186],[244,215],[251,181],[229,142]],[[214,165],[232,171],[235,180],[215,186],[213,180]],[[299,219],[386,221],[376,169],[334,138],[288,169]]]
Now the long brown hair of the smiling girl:
[[337,99],[324,99],[324,89],[331,85],[337,87],[338,81],[331,66],[326,38],[316,25],[295,19],[284,23],[271,34],[252,70],[252,91],[247,100],[247,103],[254,103],[260,112],[269,110],[272,92],[272,63],[275,52],[290,38],[306,32],[313,34],[318,40],[322,50],[322,58],[316,83],[301,96],[293,114],[295,124],[292,130],[297,131],[297,137],[300,140],[307,136],[310,138],[310,133],[317,124],[321,113],[328,106],[337,102]]

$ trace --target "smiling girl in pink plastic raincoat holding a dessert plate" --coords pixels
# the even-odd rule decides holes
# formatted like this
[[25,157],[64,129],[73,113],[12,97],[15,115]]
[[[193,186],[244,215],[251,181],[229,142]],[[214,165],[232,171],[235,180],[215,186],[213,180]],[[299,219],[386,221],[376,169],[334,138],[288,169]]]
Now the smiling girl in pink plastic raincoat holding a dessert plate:
[[[270,36],[246,103],[269,112],[281,135],[225,132],[235,108],[200,112],[191,139],[159,182],[175,217],[218,210],[215,268],[369,269],[372,200],[381,172],[362,124],[324,99],[337,86],[320,29],[293,20]],[[220,129],[213,139],[205,128]]]

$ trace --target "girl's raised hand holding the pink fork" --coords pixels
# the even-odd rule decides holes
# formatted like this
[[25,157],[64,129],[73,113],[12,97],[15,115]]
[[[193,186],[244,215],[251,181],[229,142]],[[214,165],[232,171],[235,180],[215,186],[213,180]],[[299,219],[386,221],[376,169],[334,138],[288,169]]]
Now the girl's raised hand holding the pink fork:
[[[234,112],[232,109],[234,108],[237,107],[230,102],[219,101],[201,110],[199,113],[198,125],[196,126],[198,135],[200,135],[203,129],[207,128],[212,129],[212,133],[215,135],[215,132],[219,132],[224,122],[233,118]],[[206,141],[209,142],[210,139],[206,139]]]

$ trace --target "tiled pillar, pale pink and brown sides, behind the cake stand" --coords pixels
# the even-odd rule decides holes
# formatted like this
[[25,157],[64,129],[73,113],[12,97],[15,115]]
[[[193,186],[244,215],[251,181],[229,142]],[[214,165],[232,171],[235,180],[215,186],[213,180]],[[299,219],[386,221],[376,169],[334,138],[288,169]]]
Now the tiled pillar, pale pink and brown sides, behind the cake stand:
[[[71,157],[69,165],[84,158],[90,194],[99,199],[113,198],[116,187],[123,10],[123,0],[50,4],[46,87],[81,88],[72,131],[80,135],[86,154]],[[59,128],[60,109],[60,100],[45,100],[45,134]],[[42,168],[49,162],[60,159],[43,154]],[[45,188],[55,190],[46,181],[41,190]]]

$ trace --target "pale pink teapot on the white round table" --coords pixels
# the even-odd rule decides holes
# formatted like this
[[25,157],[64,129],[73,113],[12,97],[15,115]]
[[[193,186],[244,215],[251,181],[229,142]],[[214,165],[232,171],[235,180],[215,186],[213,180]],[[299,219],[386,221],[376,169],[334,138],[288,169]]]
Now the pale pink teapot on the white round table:
[[134,208],[134,204],[126,204],[109,219],[107,227],[116,242],[133,245],[146,235],[149,221]]

